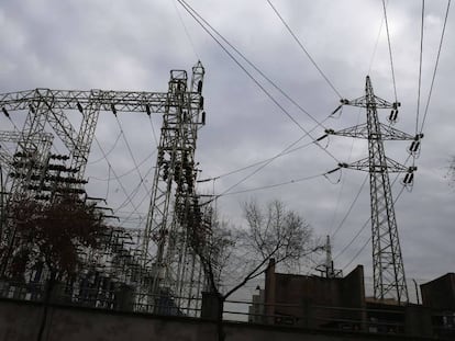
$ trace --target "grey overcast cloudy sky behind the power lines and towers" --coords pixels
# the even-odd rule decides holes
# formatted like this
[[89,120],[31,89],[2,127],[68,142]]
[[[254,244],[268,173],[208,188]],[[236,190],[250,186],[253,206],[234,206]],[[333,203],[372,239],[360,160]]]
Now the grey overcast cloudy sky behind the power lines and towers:
[[[312,141],[324,134],[324,128],[341,129],[365,122],[365,112],[357,107],[346,106],[335,117],[328,117],[340,96],[364,94],[367,75],[377,95],[395,101],[382,2],[271,2],[326,79],[266,0],[188,3],[303,110],[230,49],[251,73],[248,77],[177,0],[2,0],[0,92],[34,88],[166,92],[170,69],[190,70],[201,60],[207,72],[207,125],[200,130],[197,159],[202,169],[200,179],[217,180],[204,183],[200,191],[223,193],[218,208],[234,224],[242,224],[243,202],[279,198],[300,212],[318,236],[332,236],[336,268],[348,272],[363,263],[370,274],[370,227],[362,229],[369,217],[368,181],[362,185],[367,174],[343,170],[328,178],[321,175],[336,168],[337,161],[366,157],[366,141],[345,137],[324,139],[320,146]],[[435,0],[425,8],[419,130],[446,5],[447,1]],[[414,135],[421,2],[389,1],[387,14],[397,96],[402,103],[396,127]],[[445,178],[455,154],[453,16],[452,11],[423,125],[425,137],[415,160],[415,182],[396,204],[407,276],[420,282],[454,271],[455,190]],[[388,114],[379,112],[384,122]],[[21,122],[19,116],[12,120],[18,125]],[[4,116],[0,122],[1,129],[13,128]],[[89,191],[107,197],[129,226],[143,224],[146,216],[159,124],[158,116],[148,120],[146,115],[122,114],[116,121],[112,113],[100,115],[87,169]],[[311,137],[304,136],[304,130],[311,130]],[[258,164],[228,174],[270,159],[299,139],[293,148],[300,148],[260,170]],[[404,162],[408,147],[408,141],[387,143],[386,151]],[[396,196],[402,187],[401,178],[393,185]],[[258,190],[292,180],[291,184]]]

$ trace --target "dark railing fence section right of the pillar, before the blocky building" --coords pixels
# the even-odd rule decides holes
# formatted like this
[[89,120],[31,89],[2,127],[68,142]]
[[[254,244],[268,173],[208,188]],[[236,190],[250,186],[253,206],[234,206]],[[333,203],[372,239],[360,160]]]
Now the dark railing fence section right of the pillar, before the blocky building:
[[[349,332],[425,336],[455,340],[455,311],[431,310],[420,305],[384,305],[363,308],[226,300],[223,319],[259,325]],[[247,308],[241,308],[244,306]],[[232,307],[235,307],[233,309]]]

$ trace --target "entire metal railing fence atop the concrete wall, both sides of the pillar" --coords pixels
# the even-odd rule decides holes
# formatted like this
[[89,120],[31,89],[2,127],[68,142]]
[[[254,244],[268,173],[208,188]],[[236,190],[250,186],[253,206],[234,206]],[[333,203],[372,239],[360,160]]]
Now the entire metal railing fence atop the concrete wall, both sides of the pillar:
[[[40,283],[0,282],[0,297],[104,310],[193,318],[203,316],[213,320],[219,318],[217,309],[220,308],[219,302],[211,304],[208,302],[208,299],[217,298],[215,295],[209,295],[203,299],[200,297],[177,297],[169,293],[153,295],[136,293],[126,286],[102,291],[70,289],[67,285],[56,284],[53,291],[46,295],[46,286]],[[206,311],[203,311],[204,309]],[[223,305],[222,316],[224,321],[289,328],[426,334],[446,340],[455,339],[455,311],[432,311],[418,305],[347,308],[313,305],[309,302],[271,305],[257,300],[226,300]]]

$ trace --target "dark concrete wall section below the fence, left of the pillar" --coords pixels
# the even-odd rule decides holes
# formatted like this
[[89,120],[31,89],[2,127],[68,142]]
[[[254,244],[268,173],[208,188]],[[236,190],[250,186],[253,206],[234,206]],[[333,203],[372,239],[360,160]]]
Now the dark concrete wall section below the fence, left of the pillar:
[[[29,302],[0,300],[0,341],[36,340],[43,306]],[[53,306],[48,310],[44,340],[210,340],[215,326],[191,318],[153,317],[90,308]]]

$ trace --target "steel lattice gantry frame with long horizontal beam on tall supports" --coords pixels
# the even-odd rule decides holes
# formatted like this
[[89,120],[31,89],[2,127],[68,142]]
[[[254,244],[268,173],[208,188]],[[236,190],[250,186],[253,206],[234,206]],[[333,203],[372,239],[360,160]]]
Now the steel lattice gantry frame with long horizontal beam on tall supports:
[[[134,279],[133,282],[142,287],[137,294],[166,292],[166,295],[174,296],[198,296],[203,274],[188,245],[186,228],[189,228],[189,218],[200,219],[195,151],[198,129],[206,117],[203,76],[204,69],[198,61],[190,80],[185,70],[171,70],[167,92],[35,89],[0,94],[0,109],[5,116],[26,112],[22,132],[1,134],[3,141],[16,143],[13,156],[1,155],[5,169],[15,174],[9,200],[24,194],[40,197],[51,187],[58,191],[63,180],[78,187],[79,194],[84,193],[85,170],[100,112],[163,114],[146,226],[140,235],[135,234],[137,241],[131,250],[115,246],[129,231],[107,238],[108,243],[112,243],[107,249],[108,253],[121,251],[122,257],[129,259],[119,260],[116,254],[108,257],[107,261],[115,269],[129,268],[124,269],[129,273],[125,276]],[[70,112],[81,115],[79,127],[68,120]],[[58,137],[68,149],[67,156],[51,154],[49,127],[53,130],[51,136]],[[49,160],[53,158],[68,162],[66,168],[54,167],[56,171],[65,168],[67,178],[52,173]],[[69,177],[74,181],[67,180]],[[44,180],[54,181],[55,185],[44,186]],[[134,253],[133,258],[126,254],[127,250]],[[192,303],[188,300],[187,305],[189,308]]]

